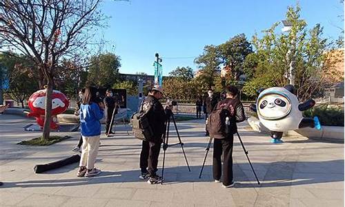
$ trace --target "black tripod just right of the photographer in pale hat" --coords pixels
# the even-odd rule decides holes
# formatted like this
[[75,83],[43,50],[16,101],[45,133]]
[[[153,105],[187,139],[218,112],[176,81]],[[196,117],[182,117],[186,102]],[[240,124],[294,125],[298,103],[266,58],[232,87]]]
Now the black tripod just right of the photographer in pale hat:
[[[165,160],[166,160],[166,149],[167,149],[168,147],[170,147],[170,146],[175,146],[175,145],[177,145],[177,144],[180,144],[180,145],[181,145],[182,152],[184,152],[184,144],[183,144],[182,141],[181,141],[181,137],[179,137],[179,130],[177,130],[177,125],[176,125],[174,113],[172,112],[171,109],[166,109],[166,112],[167,112],[169,118],[168,118],[168,120],[166,121],[166,133],[164,134],[164,140],[163,140],[164,155],[163,155],[163,166],[162,166],[162,169],[161,169],[161,184],[163,184],[164,163],[165,163]],[[177,138],[179,138],[179,142],[176,143],[176,144],[168,144],[170,120],[172,120],[172,122],[174,123],[175,130],[176,130],[176,133],[177,133]],[[185,152],[184,152],[184,160],[186,161],[186,165],[187,165],[188,170],[189,170],[189,172],[190,172],[190,167],[189,167],[188,160],[187,160],[187,157],[186,157],[186,153],[185,153]]]

